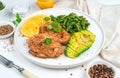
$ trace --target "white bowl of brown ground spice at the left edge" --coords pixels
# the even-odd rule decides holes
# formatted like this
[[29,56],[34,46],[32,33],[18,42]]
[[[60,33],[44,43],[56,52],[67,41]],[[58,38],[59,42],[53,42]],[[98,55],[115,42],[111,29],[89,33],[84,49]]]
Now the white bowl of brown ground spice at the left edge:
[[6,34],[6,35],[0,35],[0,39],[4,39],[4,38],[10,37],[14,33],[14,31],[15,31],[15,25],[12,22],[0,21],[0,26],[7,25],[7,24],[9,24],[9,25],[11,25],[13,27],[13,31],[11,33],[9,33],[9,34]]

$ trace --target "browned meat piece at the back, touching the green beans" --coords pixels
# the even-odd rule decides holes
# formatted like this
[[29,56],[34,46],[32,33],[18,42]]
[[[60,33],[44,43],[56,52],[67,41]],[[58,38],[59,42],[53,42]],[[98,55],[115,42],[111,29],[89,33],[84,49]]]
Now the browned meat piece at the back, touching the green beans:
[[[51,22],[47,22],[46,24],[43,24],[40,27],[40,33],[45,33],[46,35],[49,35],[49,37],[51,37],[52,39],[60,42],[62,45],[66,45],[70,39],[70,34],[64,29],[62,29],[61,32],[57,32],[57,33],[54,32],[53,29],[48,30],[47,29],[48,25],[51,25]],[[61,27],[61,26],[59,24],[58,26],[55,26],[55,27]]]

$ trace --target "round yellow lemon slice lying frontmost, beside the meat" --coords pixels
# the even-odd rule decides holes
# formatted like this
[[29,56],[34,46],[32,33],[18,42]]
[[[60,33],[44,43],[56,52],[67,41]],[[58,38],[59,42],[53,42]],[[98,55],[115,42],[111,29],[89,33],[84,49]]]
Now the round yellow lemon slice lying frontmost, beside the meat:
[[39,26],[34,22],[25,23],[21,28],[21,33],[26,37],[31,37],[39,33]]

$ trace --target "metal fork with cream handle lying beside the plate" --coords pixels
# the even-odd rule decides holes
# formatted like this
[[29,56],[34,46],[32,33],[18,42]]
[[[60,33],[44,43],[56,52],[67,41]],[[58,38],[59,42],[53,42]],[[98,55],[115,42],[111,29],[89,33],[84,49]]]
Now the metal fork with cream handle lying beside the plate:
[[12,61],[8,60],[7,58],[0,55],[0,62],[6,66],[7,68],[15,68],[19,72],[21,72],[26,78],[40,78],[34,73],[30,72],[29,70],[26,70],[18,65],[15,65]]

